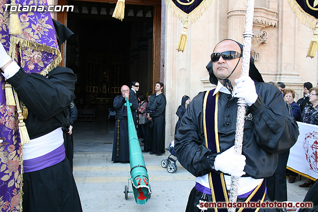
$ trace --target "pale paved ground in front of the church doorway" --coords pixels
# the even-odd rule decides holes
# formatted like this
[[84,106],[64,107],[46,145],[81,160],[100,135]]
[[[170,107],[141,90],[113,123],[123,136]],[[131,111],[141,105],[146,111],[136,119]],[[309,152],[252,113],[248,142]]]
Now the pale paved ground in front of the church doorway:
[[[114,123],[75,123],[74,177],[83,212],[184,212],[188,195],[194,186],[194,176],[179,162],[175,173],[168,173],[160,161],[168,155],[144,153],[152,196],[144,206],[135,203],[132,193],[125,200],[124,187],[130,177],[129,163],[112,163],[111,149]],[[298,178],[299,179],[299,178]],[[309,188],[305,182],[287,183],[288,200],[302,202]]]

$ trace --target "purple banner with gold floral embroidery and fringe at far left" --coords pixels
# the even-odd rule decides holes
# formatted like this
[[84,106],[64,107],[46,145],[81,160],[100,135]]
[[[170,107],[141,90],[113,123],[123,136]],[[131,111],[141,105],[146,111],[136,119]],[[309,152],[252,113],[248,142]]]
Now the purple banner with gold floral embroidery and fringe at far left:
[[[16,0],[22,5],[45,5],[46,0]],[[9,34],[9,11],[0,0],[0,42],[26,73],[45,75],[61,62],[50,12],[19,12],[22,33]],[[0,212],[21,210],[22,147],[16,106],[6,106],[5,80],[0,74]]]

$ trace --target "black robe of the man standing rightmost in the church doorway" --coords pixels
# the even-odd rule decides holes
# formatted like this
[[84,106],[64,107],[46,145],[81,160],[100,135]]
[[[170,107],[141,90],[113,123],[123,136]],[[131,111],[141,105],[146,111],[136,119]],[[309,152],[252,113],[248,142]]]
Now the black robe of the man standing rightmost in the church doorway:
[[151,95],[147,106],[147,113],[152,117],[152,121],[147,125],[145,148],[146,146],[151,146],[151,149],[147,150],[151,150],[156,154],[164,153],[165,120],[163,112],[165,105],[166,100],[163,93],[158,96],[155,93]]

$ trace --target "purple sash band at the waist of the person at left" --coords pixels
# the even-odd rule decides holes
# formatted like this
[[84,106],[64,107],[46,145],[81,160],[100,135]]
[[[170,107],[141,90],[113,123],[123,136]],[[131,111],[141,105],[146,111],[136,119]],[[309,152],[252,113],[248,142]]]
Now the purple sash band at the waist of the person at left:
[[65,148],[64,143],[53,151],[44,154],[40,157],[36,157],[29,160],[23,160],[23,171],[26,172],[32,172],[32,171],[38,171],[50,166],[53,166],[55,164],[58,164],[65,158]]

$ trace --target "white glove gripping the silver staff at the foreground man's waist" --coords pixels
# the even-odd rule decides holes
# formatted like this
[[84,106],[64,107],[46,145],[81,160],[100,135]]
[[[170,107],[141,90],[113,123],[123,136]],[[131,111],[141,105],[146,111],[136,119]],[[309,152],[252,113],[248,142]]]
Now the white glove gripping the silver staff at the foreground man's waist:
[[234,152],[234,146],[232,146],[215,157],[214,169],[230,174],[233,177],[240,177],[245,174],[245,172],[243,172],[246,164],[245,160],[246,157],[241,154],[236,154]]

